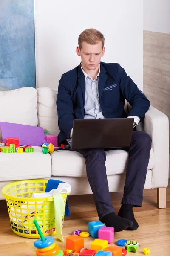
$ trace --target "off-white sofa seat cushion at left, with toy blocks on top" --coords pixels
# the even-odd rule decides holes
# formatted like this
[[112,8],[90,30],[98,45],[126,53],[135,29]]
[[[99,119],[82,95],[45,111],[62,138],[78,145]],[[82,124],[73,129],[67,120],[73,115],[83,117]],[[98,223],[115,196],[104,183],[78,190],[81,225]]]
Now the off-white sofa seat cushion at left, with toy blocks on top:
[[51,156],[41,147],[34,153],[0,153],[0,181],[51,177]]

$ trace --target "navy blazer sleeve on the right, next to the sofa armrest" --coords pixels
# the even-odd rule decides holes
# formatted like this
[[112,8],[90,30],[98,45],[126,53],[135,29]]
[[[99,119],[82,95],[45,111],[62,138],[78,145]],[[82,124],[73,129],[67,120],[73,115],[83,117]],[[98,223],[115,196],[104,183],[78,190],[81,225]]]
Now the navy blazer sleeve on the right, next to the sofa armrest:
[[144,117],[150,107],[150,101],[142,93],[132,79],[127,76],[125,70],[118,64],[119,86],[122,95],[130,103],[132,109],[128,116]]

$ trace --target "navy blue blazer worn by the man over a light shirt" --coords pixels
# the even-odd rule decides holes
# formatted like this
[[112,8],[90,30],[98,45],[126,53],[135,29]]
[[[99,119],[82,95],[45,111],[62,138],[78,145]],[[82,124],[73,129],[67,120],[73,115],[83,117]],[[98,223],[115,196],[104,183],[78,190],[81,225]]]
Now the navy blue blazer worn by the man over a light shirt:
[[[149,109],[150,101],[119,64],[100,62],[99,102],[105,118],[127,117],[124,111],[125,99],[132,106],[128,116],[139,116],[142,119]],[[85,76],[79,65],[63,74],[59,80],[57,94],[59,143],[70,138],[74,119],[84,119],[84,105]]]

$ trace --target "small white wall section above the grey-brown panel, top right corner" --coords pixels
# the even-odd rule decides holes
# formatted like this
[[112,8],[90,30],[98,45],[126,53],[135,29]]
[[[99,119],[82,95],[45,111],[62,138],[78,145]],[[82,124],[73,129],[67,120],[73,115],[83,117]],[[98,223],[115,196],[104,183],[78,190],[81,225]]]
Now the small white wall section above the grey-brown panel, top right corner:
[[144,0],[144,30],[170,34],[170,0]]

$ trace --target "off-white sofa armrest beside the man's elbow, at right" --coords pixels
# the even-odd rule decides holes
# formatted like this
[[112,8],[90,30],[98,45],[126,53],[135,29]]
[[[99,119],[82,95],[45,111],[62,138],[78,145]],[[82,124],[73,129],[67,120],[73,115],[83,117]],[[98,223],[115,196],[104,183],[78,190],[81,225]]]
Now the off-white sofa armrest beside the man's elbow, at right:
[[150,106],[144,119],[136,126],[152,139],[155,166],[152,175],[152,188],[167,187],[169,170],[169,120],[168,117]]

